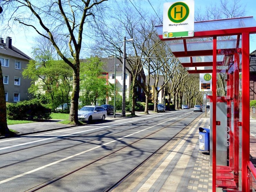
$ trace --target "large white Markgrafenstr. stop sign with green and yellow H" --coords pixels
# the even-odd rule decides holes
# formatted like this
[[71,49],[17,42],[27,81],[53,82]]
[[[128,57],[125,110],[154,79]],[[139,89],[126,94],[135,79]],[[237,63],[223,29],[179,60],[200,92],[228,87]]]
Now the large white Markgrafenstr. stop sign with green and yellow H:
[[195,1],[164,3],[163,38],[194,36]]

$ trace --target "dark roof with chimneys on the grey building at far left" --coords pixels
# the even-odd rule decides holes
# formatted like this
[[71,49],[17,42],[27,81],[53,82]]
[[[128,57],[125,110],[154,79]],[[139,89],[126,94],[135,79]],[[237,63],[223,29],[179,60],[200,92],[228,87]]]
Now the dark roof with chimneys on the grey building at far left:
[[13,45],[12,45],[12,48],[10,49],[6,46],[5,43],[0,43],[0,54],[4,56],[19,58],[22,60],[31,60],[31,58],[28,55],[26,55],[25,53],[23,53],[22,51],[14,47]]

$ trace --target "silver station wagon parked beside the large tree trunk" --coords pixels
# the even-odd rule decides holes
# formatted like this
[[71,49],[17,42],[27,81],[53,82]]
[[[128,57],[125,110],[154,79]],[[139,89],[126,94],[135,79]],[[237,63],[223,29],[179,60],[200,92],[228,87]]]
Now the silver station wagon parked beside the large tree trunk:
[[78,120],[87,121],[88,124],[96,119],[104,121],[106,117],[107,110],[101,106],[87,105],[78,110]]

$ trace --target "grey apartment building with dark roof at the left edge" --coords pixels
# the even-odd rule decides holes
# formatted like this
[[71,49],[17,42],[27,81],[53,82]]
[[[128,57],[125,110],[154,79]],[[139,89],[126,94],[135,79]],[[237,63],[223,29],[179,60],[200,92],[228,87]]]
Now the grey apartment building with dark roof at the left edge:
[[23,68],[26,68],[31,58],[12,45],[12,38],[0,38],[0,61],[4,79],[5,100],[15,103],[28,99],[30,79],[22,76]]

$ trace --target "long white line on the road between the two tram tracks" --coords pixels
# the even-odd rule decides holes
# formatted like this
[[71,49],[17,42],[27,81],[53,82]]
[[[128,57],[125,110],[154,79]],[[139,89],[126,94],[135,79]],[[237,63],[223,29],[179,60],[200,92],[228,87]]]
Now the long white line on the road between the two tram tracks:
[[[149,117],[148,117],[148,118],[149,118]],[[121,138],[119,138],[119,139],[110,141],[110,142],[108,142],[108,143],[104,143],[104,144],[102,144],[102,145],[100,145],[100,146],[97,146],[97,147],[94,147],[94,148],[91,148],[91,149],[82,151],[82,152],[77,153],[77,154],[75,154],[75,155],[65,157],[65,158],[60,159],[60,160],[58,160],[58,161],[54,161],[54,162],[52,162],[52,163],[50,163],[50,164],[47,164],[47,165],[38,167],[38,168],[33,169],[33,170],[31,170],[31,171],[28,171],[28,172],[25,172],[25,173],[21,173],[21,174],[19,174],[19,175],[13,176],[13,177],[11,177],[11,178],[2,180],[2,181],[0,181],[0,184],[5,183],[5,182],[8,182],[8,181],[11,181],[11,180],[14,180],[14,179],[17,179],[17,178],[19,178],[19,177],[22,177],[22,176],[24,176],[24,175],[28,175],[28,174],[33,173],[33,172],[36,172],[36,171],[39,171],[39,170],[41,170],[41,169],[44,169],[44,168],[49,167],[49,166],[51,166],[51,165],[60,163],[60,162],[65,161],[65,160],[67,160],[67,159],[73,158],[73,157],[75,157],[75,156],[82,155],[82,154],[84,154],[84,153],[86,153],[86,152],[92,151],[92,150],[97,149],[97,148],[100,148],[100,147],[102,147],[102,146],[106,146],[106,145],[108,145],[108,144],[110,144],[110,143],[114,143],[114,142],[116,142],[116,141],[118,141],[118,140],[122,140],[122,139],[124,139],[124,138],[126,138],[126,137],[130,137],[130,136],[132,136],[132,135],[134,135],[134,134],[137,134],[137,133],[139,133],[139,132],[145,131],[145,130],[147,130],[147,129],[150,129],[150,128],[152,128],[152,127],[158,126],[158,125],[160,125],[160,124],[166,123],[166,122],[168,122],[168,121],[172,121],[173,119],[176,119],[176,118],[178,118],[178,117],[175,117],[175,118],[172,118],[172,119],[170,119],[170,120],[164,121],[164,122],[159,123],[159,124],[157,124],[157,125],[153,125],[153,126],[148,127],[148,128],[146,128],[146,129],[143,129],[143,130],[134,132],[134,133],[132,133],[132,134],[126,135],[126,136],[124,136],[124,137],[121,137]],[[123,124],[123,123],[122,123],[122,124]]]

